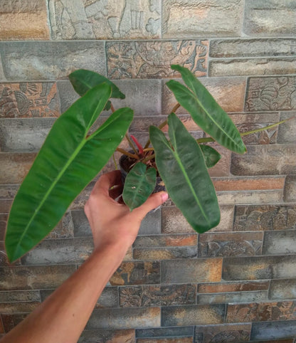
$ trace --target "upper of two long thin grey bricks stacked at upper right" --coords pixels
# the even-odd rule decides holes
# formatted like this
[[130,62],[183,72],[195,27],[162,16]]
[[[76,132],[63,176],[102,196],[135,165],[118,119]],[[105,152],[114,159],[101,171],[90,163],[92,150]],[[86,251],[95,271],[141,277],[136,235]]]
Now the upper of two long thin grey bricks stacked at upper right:
[[294,38],[214,39],[210,45],[213,58],[294,56]]

